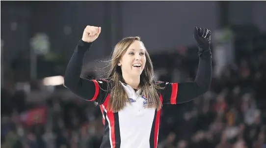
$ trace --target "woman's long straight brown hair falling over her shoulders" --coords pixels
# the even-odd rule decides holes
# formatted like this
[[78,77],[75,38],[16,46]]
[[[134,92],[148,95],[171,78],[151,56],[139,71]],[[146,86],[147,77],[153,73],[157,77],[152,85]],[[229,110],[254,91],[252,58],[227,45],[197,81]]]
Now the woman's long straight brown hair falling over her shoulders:
[[[112,87],[110,89],[110,98],[106,108],[108,111],[111,110],[113,112],[118,112],[119,110],[122,110],[129,100],[129,97],[121,84],[121,82],[124,82],[124,79],[122,77],[121,67],[118,66],[117,63],[135,40],[140,41],[140,37],[126,37],[119,41],[113,49],[112,58],[109,63],[110,70],[107,77],[107,79],[109,79],[112,83]],[[153,83],[153,64],[147,50],[145,50],[145,57],[146,64],[143,72],[140,75],[139,88],[142,90],[143,94],[146,95],[147,107],[160,110],[162,103],[157,90],[161,88],[159,85]]]

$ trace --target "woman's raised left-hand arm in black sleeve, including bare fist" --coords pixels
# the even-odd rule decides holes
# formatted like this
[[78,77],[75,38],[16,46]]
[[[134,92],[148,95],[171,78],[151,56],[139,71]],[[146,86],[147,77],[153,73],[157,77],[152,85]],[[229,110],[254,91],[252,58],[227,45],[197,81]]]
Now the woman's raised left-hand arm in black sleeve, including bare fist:
[[100,101],[103,93],[100,88],[106,88],[106,82],[98,83],[97,80],[80,78],[82,61],[85,53],[91,47],[92,42],[98,38],[101,28],[87,26],[83,32],[75,51],[67,65],[64,85],[74,94],[88,101]]

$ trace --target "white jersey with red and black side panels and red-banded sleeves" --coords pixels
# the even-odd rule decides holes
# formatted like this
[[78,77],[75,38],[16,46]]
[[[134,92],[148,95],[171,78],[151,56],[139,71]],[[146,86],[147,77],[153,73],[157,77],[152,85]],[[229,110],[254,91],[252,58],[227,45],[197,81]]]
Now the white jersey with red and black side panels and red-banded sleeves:
[[[105,133],[100,148],[157,148],[160,110],[146,108],[146,98],[140,94],[140,90],[135,91],[129,85],[122,83],[129,96],[129,102],[118,113],[108,112],[106,106],[109,93],[102,90],[102,88],[106,88],[108,82],[104,80],[93,81],[96,91],[99,92],[96,92],[95,97],[91,100],[98,99],[105,125]],[[161,84],[165,87],[158,92],[162,103],[176,104],[177,83],[161,82]],[[162,96],[170,97],[164,99]]]

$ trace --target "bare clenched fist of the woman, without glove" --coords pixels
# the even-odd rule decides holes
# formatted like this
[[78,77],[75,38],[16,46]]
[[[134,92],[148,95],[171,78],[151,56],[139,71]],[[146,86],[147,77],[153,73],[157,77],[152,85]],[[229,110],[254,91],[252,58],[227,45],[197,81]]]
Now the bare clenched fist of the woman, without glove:
[[84,42],[93,42],[96,40],[101,33],[101,27],[87,26],[82,35],[82,41]]

